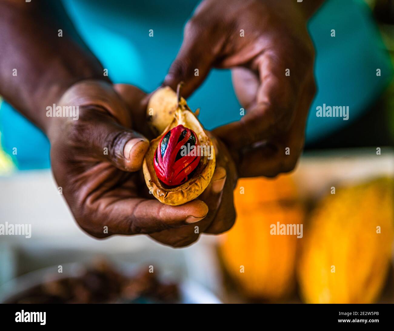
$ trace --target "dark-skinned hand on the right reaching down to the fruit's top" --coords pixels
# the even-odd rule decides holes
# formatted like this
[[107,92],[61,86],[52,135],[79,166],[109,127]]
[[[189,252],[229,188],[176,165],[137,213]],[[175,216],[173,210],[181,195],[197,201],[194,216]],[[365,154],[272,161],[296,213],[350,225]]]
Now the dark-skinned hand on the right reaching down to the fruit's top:
[[186,24],[182,47],[165,77],[164,85],[173,88],[184,81],[188,96],[212,67],[232,69],[246,114],[214,134],[227,144],[240,177],[291,171],[302,152],[316,91],[314,48],[302,6],[293,0],[228,0],[225,6],[203,1]]

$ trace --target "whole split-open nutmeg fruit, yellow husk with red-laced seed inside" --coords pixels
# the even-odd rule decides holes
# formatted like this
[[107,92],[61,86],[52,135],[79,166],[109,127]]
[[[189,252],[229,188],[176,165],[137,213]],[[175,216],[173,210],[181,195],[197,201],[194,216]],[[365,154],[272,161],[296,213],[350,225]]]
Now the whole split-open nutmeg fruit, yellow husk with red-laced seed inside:
[[143,162],[151,193],[160,202],[173,206],[203,193],[216,164],[209,132],[197,119],[198,111],[193,113],[180,96],[180,88],[178,85],[177,94],[165,87],[152,95],[147,107],[149,122],[153,131],[162,131],[151,141]]

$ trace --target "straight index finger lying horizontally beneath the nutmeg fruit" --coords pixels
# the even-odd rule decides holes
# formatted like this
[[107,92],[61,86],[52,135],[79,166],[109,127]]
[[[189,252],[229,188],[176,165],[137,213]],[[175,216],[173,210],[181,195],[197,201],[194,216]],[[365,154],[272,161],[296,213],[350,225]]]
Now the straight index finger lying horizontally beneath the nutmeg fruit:
[[157,200],[138,198],[117,201],[106,210],[108,232],[124,235],[153,234],[194,224],[201,221],[207,213],[208,207],[199,200],[170,206]]

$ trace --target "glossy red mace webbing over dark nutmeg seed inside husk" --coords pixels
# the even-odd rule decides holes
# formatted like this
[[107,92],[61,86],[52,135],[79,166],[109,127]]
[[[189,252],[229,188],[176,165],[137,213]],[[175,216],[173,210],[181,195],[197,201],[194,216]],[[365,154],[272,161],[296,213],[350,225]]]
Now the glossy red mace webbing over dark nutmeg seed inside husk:
[[160,140],[154,154],[157,177],[168,186],[186,182],[200,162],[200,156],[197,155],[199,143],[196,134],[183,125],[168,131]]

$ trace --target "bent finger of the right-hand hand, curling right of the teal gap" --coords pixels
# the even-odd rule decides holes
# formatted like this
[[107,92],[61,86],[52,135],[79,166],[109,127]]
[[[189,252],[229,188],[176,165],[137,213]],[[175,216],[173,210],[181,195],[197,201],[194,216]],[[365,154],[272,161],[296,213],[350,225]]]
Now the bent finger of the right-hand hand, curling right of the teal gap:
[[[288,130],[294,120],[301,86],[307,74],[297,68],[288,55],[272,51],[257,57],[255,64],[260,77],[257,89],[256,80],[250,73],[238,70],[233,75],[237,95],[249,105],[246,114],[240,121],[214,131],[234,148],[245,147]],[[286,75],[286,69],[290,69],[290,76]],[[239,134],[235,135],[234,132]]]

